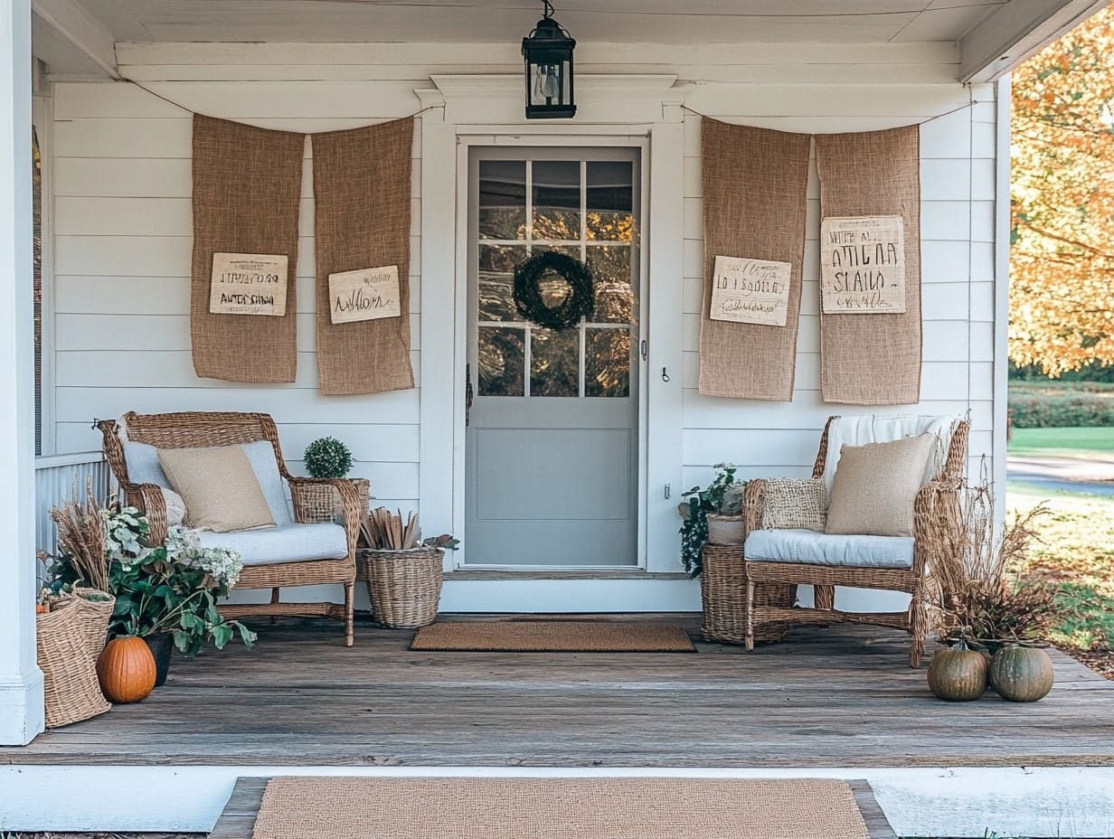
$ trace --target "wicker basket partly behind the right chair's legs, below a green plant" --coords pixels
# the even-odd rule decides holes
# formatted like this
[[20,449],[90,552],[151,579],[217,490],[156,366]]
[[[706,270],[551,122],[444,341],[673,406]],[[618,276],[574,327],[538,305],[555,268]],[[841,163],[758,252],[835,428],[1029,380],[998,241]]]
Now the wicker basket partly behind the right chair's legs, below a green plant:
[[[705,641],[729,644],[746,642],[746,566],[742,545],[705,545],[704,570],[701,573],[701,599],[704,604],[704,623],[701,632]],[[754,603],[769,606],[792,606],[797,586],[759,585]],[[789,631],[784,621],[765,623],[754,628],[755,641],[781,641]]]

